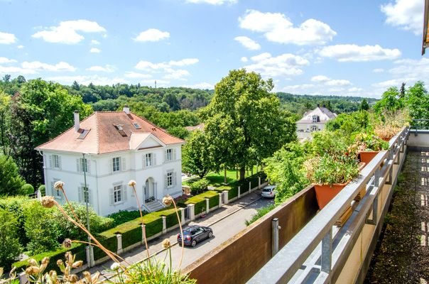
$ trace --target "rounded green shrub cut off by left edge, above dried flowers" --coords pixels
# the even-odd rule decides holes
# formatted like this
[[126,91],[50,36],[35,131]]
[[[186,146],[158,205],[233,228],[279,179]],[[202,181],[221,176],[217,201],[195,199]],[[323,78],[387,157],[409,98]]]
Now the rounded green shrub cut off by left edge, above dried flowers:
[[22,251],[17,238],[18,221],[16,218],[0,208],[0,267],[9,271],[11,263],[16,261]]

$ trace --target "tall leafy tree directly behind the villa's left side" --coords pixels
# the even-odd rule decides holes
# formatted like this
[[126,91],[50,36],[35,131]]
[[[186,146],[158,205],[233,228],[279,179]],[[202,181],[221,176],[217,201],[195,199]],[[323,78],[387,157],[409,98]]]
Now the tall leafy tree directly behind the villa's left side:
[[92,111],[81,97],[70,95],[60,84],[41,79],[24,83],[13,97],[9,130],[11,155],[31,185],[43,182],[42,156],[34,148],[70,128],[75,110],[80,111],[82,117]]

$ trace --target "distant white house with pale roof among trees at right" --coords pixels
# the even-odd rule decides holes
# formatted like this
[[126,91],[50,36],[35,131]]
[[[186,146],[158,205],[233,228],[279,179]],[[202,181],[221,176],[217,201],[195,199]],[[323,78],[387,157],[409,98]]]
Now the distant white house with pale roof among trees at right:
[[303,118],[296,122],[298,139],[311,138],[312,132],[325,129],[327,121],[335,119],[335,117],[337,117],[337,114],[319,105],[312,111],[305,112]]

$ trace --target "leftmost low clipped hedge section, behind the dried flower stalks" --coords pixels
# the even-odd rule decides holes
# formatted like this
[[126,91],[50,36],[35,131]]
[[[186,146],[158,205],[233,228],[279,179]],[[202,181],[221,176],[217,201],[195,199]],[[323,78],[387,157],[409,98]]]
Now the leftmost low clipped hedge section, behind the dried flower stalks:
[[[73,255],[75,255],[75,261],[83,261],[84,263],[87,262],[87,255],[85,251],[85,245],[84,244],[76,244],[73,243],[72,247],[70,249],[60,248],[56,251],[49,251],[47,253],[39,253],[35,256],[32,256],[31,258],[36,259],[40,263],[44,257],[49,258],[48,266],[45,269],[45,272],[49,271],[57,271],[58,274],[61,274],[60,268],[57,266],[58,259],[61,259],[65,261],[65,253],[67,251],[70,251]],[[30,258],[27,258],[25,261],[18,261],[16,263],[13,263],[13,266],[16,267],[16,272],[20,273],[21,271],[25,271],[28,266],[28,260]]]

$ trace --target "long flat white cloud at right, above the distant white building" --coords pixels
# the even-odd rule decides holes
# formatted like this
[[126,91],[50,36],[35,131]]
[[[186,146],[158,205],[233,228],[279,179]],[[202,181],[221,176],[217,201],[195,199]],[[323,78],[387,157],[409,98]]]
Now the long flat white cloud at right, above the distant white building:
[[333,58],[340,62],[362,62],[375,60],[393,60],[401,56],[398,49],[381,48],[380,45],[330,45],[319,53],[323,57]]

